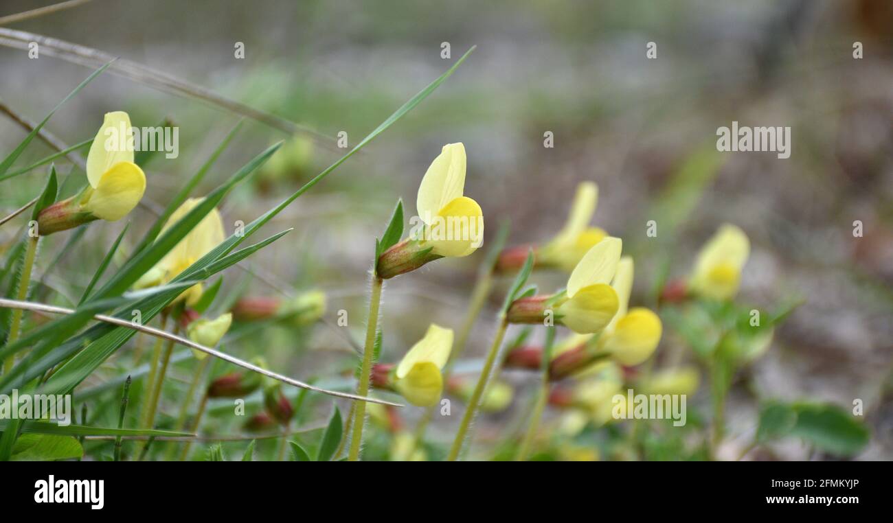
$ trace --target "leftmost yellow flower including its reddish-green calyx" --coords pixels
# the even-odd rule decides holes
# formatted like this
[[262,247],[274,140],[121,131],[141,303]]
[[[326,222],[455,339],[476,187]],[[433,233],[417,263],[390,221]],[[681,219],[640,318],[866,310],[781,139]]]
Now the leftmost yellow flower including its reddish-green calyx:
[[88,186],[77,195],[47,206],[38,215],[42,235],[92,220],[115,221],[137,206],[146,192],[146,175],[133,162],[133,131],[126,112],[107,112],[87,157]]

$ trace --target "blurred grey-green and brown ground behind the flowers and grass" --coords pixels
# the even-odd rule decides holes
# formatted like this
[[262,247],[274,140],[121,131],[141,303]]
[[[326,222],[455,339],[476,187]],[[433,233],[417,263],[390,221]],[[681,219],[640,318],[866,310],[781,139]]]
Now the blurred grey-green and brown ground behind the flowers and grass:
[[[0,16],[45,4],[4,0]],[[430,161],[442,145],[463,142],[465,194],[484,210],[487,240],[503,219],[511,220],[510,245],[552,237],[577,184],[596,181],[594,223],[622,237],[624,253],[636,258],[633,303],[648,305],[663,277],[687,274],[699,245],[722,222],[743,228],[752,255],[740,300],[805,303],[739,376],[747,386],[730,395],[729,455],[753,436],[756,403],[747,391],[754,389],[761,397],[808,398],[847,410],[862,399],[872,440],[856,458],[893,458],[893,4],[887,0],[95,0],[4,27],[142,63],[318,132],[291,142],[288,161],[274,159],[225,200],[228,232],[337,160],[345,152],[336,145],[339,132],[355,145],[478,46],[434,95],[265,232],[295,231],[226,273],[231,295],[321,288],[330,324],[253,333],[224,346],[232,353],[263,352],[272,368],[296,378],[349,376],[354,363],[346,333],[331,324],[344,310],[349,336],[362,339],[373,237],[398,197],[407,215],[415,213]],[[244,43],[244,59],[234,57],[237,42]],[[448,59],[441,58],[445,42]],[[648,42],[656,44],[656,59],[647,59]],[[854,59],[854,42],[863,45],[862,59]],[[39,121],[91,69],[48,54],[31,60],[2,46],[0,71],[0,99]],[[103,113],[116,110],[129,112],[138,127],[164,119],[179,126],[179,157],[159,155],[146,166],[146,201],[158,208],[239,120],[196,99],[104,74],[46,129],[72,145],[93,137]],[[716,129],[732,120],[789,126],[790,158],[717,153]],[[543,145],[547,131],[552,148]],[[12,150],[24,135],[0,118],[0,150]],[[196,195],[286,138],[246,120]],[[33,145],[19,165],[52,152]],[[57,167],[66,174],[71,163]],[[4,213],[33,197],[43,172],[0,185]],[[130,219],[138,232],[125,244],[135,245],[153,216],[138,209]],[[646,236],[648,220],[658,224],[655,238]],[[855,220],[863,237],[853,235]],[[38,278],[63,296],[69,287],[83,288],[123,225],[90,228],[58,265],[42,255]],[[4,242],[14,234],[12,224],[0,230]],[[63,236],[49,237],[44,253],[60,252]],[[459,326],[482,256],[435,262],[388,282],[382,361],[397,361],[430,322]],[[542,289],[563,286],[564,278],[535,276]],[[508,283],[497,286],[472,331],[466,351],[472,361],[486,351]],[[682,344],[666,329],[656,358]],[[110,364],[92,385],[119,375],[124,364]],[[516,385],[521,405],[482,419],[481,441],[511,426],[515,411],[523,411],[524,387],[535,379],[511,372],[505,378]],[[329,404],[319,403],[317,418]],[[413,419],[416,411],[405,416]],[[430,438],[449,442],[457,422],[436,420],[442,434],[432,431]],[[795,441],[757,457],[812,455]]]

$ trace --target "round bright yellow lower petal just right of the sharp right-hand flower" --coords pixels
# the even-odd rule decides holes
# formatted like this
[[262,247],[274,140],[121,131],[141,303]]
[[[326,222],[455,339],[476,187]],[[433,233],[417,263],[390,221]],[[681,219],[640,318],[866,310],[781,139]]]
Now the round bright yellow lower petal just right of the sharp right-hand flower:
[[623,365],[638,365],[655,352],[662,330],[661,319],[654,312],[635,307],[617,321],[603,346]]

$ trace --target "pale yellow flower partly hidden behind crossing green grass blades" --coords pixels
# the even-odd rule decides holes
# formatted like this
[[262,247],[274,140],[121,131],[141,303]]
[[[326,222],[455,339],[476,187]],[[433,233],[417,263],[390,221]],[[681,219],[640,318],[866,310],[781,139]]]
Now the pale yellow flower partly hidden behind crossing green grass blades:
[[[189,198],[183,202],[171,214],[171,218],[164,224],[160,234],[163,235],[168,228],[186,216],[196,205],[202,203],[202,200],[204,198]],[[217,209],[212,209],[204,219],[198,222],[196,227],[188,232],[186,237],[179,241],[179,244],[164,255],[160,262],[138,279],[135,287],[139,289],[168,283],[180,272],[211,252],[214,247],[220,245],[223,237],[223,221],[220,212],[217,212]],[[191,286],[183,291],[177,300],[185,299],[188,305],[193,305],[202,296],[202,288],[201,284]]]

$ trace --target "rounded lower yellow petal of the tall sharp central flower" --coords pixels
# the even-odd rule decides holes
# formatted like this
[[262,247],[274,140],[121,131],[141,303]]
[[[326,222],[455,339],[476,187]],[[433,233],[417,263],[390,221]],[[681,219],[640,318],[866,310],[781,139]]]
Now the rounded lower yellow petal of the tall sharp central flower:
[[432,221],[426,238],[426,245],[434,247],[432,253],[458,258],[473,253],[482,245],[483,212],[472,198],[455,198]]

